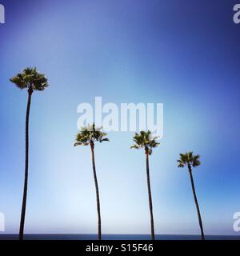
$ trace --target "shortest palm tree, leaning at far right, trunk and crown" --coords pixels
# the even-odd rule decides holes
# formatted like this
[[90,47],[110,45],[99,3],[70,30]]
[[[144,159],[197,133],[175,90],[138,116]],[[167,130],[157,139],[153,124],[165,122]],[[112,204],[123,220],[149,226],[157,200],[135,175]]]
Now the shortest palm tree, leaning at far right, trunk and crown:
[[188,168],[188,172],[190,174],[191,186],[192,186],[192,190],[193,190],[193,194],[194,194],[194,201],[195,201],[197,212],[198,212],[198,222],[199,222],[199,226],[200,226],[200,230],[201,230],[201,234],[202,234],[202,240],[204,240],[205,237],[204,237],[204,232],[203,232],[203,227],[202,227],[202,218],[201,218],[201,213],[200,213],[200,209],[198,206],[198,198],[196,195],[195,186],[194,186],[194,178],[193,178],[193,174],[192,174],[192,166],[197,167],[197,166],[201,165],[199,158],[200,158],[200,155],[199,154],[194,155],[193,152],[188,152],[186,154],[180,154],[180,159],[178,160],[178,167],[183,168],[184,166],[187,166],[187,168]]

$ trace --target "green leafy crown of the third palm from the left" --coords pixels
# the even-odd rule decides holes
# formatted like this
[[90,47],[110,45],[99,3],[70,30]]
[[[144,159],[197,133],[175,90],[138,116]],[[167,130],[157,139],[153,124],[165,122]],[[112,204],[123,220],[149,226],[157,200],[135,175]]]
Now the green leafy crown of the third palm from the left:
[[160,145],[160,143],[156,142],[158,137],[153,137],[150,130],[143,131],[140,133],[135,133],[134,142],[135,144],[131,146],[131,149],[141,149],[144,148],[147,154],[152,154],[153,148]]

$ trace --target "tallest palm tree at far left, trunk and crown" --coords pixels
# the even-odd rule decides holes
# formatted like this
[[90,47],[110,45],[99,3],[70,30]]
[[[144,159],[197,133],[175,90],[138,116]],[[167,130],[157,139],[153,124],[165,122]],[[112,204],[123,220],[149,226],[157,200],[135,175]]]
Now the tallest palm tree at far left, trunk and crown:
[[28,180],[28,155],[29,155],[29,116],[30,116],[30,105],[31,98],[34,90],[45,90],[48,85],[45,74],[38,73],[37,69],[26,68],[22,73],[17,74],[14,78],[10,79],[15,86],[22,89],[27,89],[28,101],[26,107],[26,157],[25,157],[25,180],[24,180],[24,190],[22,198],[22,214],[19,229],[19,240],[23,239],[24,233],[24,222],[26,214],[26,194],[27,194],[27,180]]

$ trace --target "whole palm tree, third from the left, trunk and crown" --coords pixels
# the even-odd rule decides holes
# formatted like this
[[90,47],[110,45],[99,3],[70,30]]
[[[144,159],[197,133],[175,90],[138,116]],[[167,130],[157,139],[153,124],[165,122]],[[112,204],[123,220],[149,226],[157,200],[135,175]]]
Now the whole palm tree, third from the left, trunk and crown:
[[150,224],[151,224],[151,236],[152,240],[154,240],[154,213],[153,213],[153,203],[152,203],[152,195],[151,195],[151,187],[150,187],[150,169],[149,169],[149,156],[152,154],[154,147],[160,145],[160,143],[156,142],[158,137],[152,137],[152,133],[150,130],[148,131],[140,131],[140,133],[136,133],[134,135],[134,145],[131,146],[131,149],[141,149],[145,150],[146,155],[146,178],[147,178],[147,190],[148,190],[148,199],[149,199],[149,208],[150,208]]

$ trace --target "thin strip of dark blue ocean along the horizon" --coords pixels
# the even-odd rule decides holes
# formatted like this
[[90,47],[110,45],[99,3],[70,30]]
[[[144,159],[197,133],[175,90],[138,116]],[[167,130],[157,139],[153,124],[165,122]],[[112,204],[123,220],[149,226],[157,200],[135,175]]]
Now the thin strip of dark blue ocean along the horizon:
[[[26,234],[26,240],[97,240],[96,234]],[[156,234],[156,240],[201,240],[199,235]],[[18,234],[0,234],[0,240],[17,240]],[[149,234],[102,234],[102,240],[150,240]],[[206,240],[240,240],[237,235],[206,235]]]

